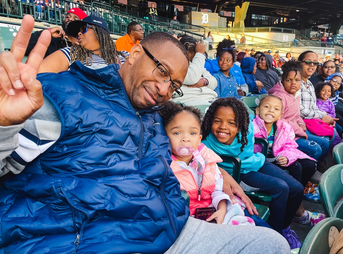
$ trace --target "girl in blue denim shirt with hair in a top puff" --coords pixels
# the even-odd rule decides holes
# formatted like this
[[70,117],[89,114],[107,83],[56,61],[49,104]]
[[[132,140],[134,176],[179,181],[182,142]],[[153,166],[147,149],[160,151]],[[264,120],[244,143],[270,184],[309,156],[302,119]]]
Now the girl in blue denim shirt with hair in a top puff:
[[218,98],[236,97],[240,99],[236,88],[236,78],[230,74],[230,68],[235,61],[233,50],[223,50],[218,58],[219,71],[213,75],[217,79],[217,87],[214,91]]

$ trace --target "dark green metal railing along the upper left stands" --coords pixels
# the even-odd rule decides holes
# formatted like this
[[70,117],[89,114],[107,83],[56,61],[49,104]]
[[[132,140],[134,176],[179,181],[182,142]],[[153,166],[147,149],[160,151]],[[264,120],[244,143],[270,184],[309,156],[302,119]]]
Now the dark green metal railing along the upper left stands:
[[[33,0],[28,0],[33,1]],[[130,14],[122,13],[114,10],[113,7],[99,2],[92,2],[91,5],[81,4],[72,0],[62,0],[56,7],[36,7],[33,2],[26,1],[3,1],[5,5],[0,5],[0,16],[23,18],[24,15],[29,14],[35,18],[37,22],[47,22],[49,24],[61,25],[68,10],[74,7],[82,9],[87,15],[96,15],[106,20],[111,34],[125,35],[127,25],[132,21],[137,21],[145,30],[144,35],[154,31],[173,31],[181,35],[187,34],[200,40],[204,34],[204,28],[199,34],[199,29],[194,29],[194,26],[186,24],[163,24],[157,21],[146,20],[144,18],[134,17]]]

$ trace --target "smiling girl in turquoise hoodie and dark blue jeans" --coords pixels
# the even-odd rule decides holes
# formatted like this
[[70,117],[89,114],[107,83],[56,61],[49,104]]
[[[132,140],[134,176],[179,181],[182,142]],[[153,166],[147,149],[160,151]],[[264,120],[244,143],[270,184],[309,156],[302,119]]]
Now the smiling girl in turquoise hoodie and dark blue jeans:
[[[281,109],[280,109],[281,110]],[[304,195],[300,182],[281,168],[254,153],[254,130],[243,102],[220,98],[212,103],[202,122],[202,142],[217,154],[236,155],[241,160],[240,179],[246,185],[271,194],[269,225],[281,233],[291,249],[301,243],[289,228]],[[232,174],[230,163],[218,163]]]

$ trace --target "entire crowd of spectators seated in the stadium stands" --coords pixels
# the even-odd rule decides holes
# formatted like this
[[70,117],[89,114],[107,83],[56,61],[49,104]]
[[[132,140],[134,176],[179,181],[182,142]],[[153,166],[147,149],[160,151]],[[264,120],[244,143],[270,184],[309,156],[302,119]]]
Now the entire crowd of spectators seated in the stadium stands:
[[[31,37],[34,20],[24,16],[11,52],[0,55],[0,247],[13,253],[299,248],[292,220],[314,226],[325,218],[301,201],[320,202],[316,169],[342,142],[336,62],[343,57],[329,56],[318,72],[313,51],[297,60],[271,50],[238,53],[228,38],[210,60],[193,37],[144,37],[137,22],[114,41],[107,22],[87,15],[79,1],[62,28]],[[149,14],[157,16],[153,4]],[[206,40],[211,49],[211,32]],[[247,97],[258,101],[255,115],[243,103]],[[202,105],[204,116],[196,109]],[[261,137],[268,155],[253,144]],[[240,158],[243,184],[219,154]],[[271,194],[268,223],[248,189]],[[209,209],[210,217],[198,219]]]

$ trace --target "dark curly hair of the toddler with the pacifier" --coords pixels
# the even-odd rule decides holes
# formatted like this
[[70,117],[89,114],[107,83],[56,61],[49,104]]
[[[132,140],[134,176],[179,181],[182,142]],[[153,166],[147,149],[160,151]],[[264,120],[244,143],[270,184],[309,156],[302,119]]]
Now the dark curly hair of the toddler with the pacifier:
[[[201,127],[202,114],[199,109],[191,106],[182,107],[181,104],[172,101],[167,101],[163,105],[164,107],[160,109],[158,113],[162,117],[162,123],[164,127],[173,122],[175,117],[182,112],[187,112],[193,115],[199,123],[199,127]],[[187,121],[187,119],[185,119],[185,121]]]

